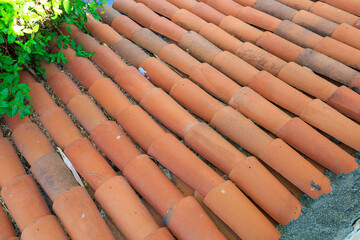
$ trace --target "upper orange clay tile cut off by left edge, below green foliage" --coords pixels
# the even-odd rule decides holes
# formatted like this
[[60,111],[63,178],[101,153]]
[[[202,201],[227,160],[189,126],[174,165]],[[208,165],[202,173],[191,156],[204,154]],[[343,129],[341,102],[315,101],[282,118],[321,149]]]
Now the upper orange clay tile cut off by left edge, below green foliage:
[[0,186],[4,186],[11,179],[24,175],[25,170],[9,140],[0,137],[0,149],[0,165],[2,166],[0,170]]

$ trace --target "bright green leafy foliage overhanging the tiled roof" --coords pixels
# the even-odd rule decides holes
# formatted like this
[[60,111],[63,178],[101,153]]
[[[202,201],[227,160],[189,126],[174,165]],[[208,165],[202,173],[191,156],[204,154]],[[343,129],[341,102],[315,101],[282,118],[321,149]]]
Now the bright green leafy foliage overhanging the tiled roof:
[[[86,13],[100,20],[96,9],[106,0],[85,3],[82,0],[0,0],[0,115],[6,113],[21,118],[31,113],[29,86],[19,83],[19,71],[35,69],[43,75],[39,61],[65,63],[62,52],[48,52],[49,43],[76,51],[76,55],[90,57],[94,53],[82,50],[74,40],[59,30],[63,22],[75,24],[85,30]],[[71,29],[67,27],[68,31]]]

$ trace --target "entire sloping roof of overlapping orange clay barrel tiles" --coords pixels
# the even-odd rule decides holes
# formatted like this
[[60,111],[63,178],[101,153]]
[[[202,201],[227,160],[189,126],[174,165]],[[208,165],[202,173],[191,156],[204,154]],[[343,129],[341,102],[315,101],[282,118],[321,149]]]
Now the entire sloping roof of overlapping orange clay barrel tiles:
[[115,0],[89,34],[62,25],[95,54],[51,49],[68,61],[20,75],[33,115],[4,116],[1,198],[22,239],[278,239],[301,193],[332,191],[324,169],[358,167],[356,4]]

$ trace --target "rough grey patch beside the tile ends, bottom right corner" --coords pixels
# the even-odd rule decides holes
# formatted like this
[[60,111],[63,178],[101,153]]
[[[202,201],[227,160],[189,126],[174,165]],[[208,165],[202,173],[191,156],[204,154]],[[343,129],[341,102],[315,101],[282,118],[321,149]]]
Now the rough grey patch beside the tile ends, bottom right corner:
[[278,226],[280,239],[344,240],[353,231],[360,218],[360,168],[348,175],[326,170],[325,175],[330,178],[333,191],[316,200],[302,195],[304,215],[285,227]]

